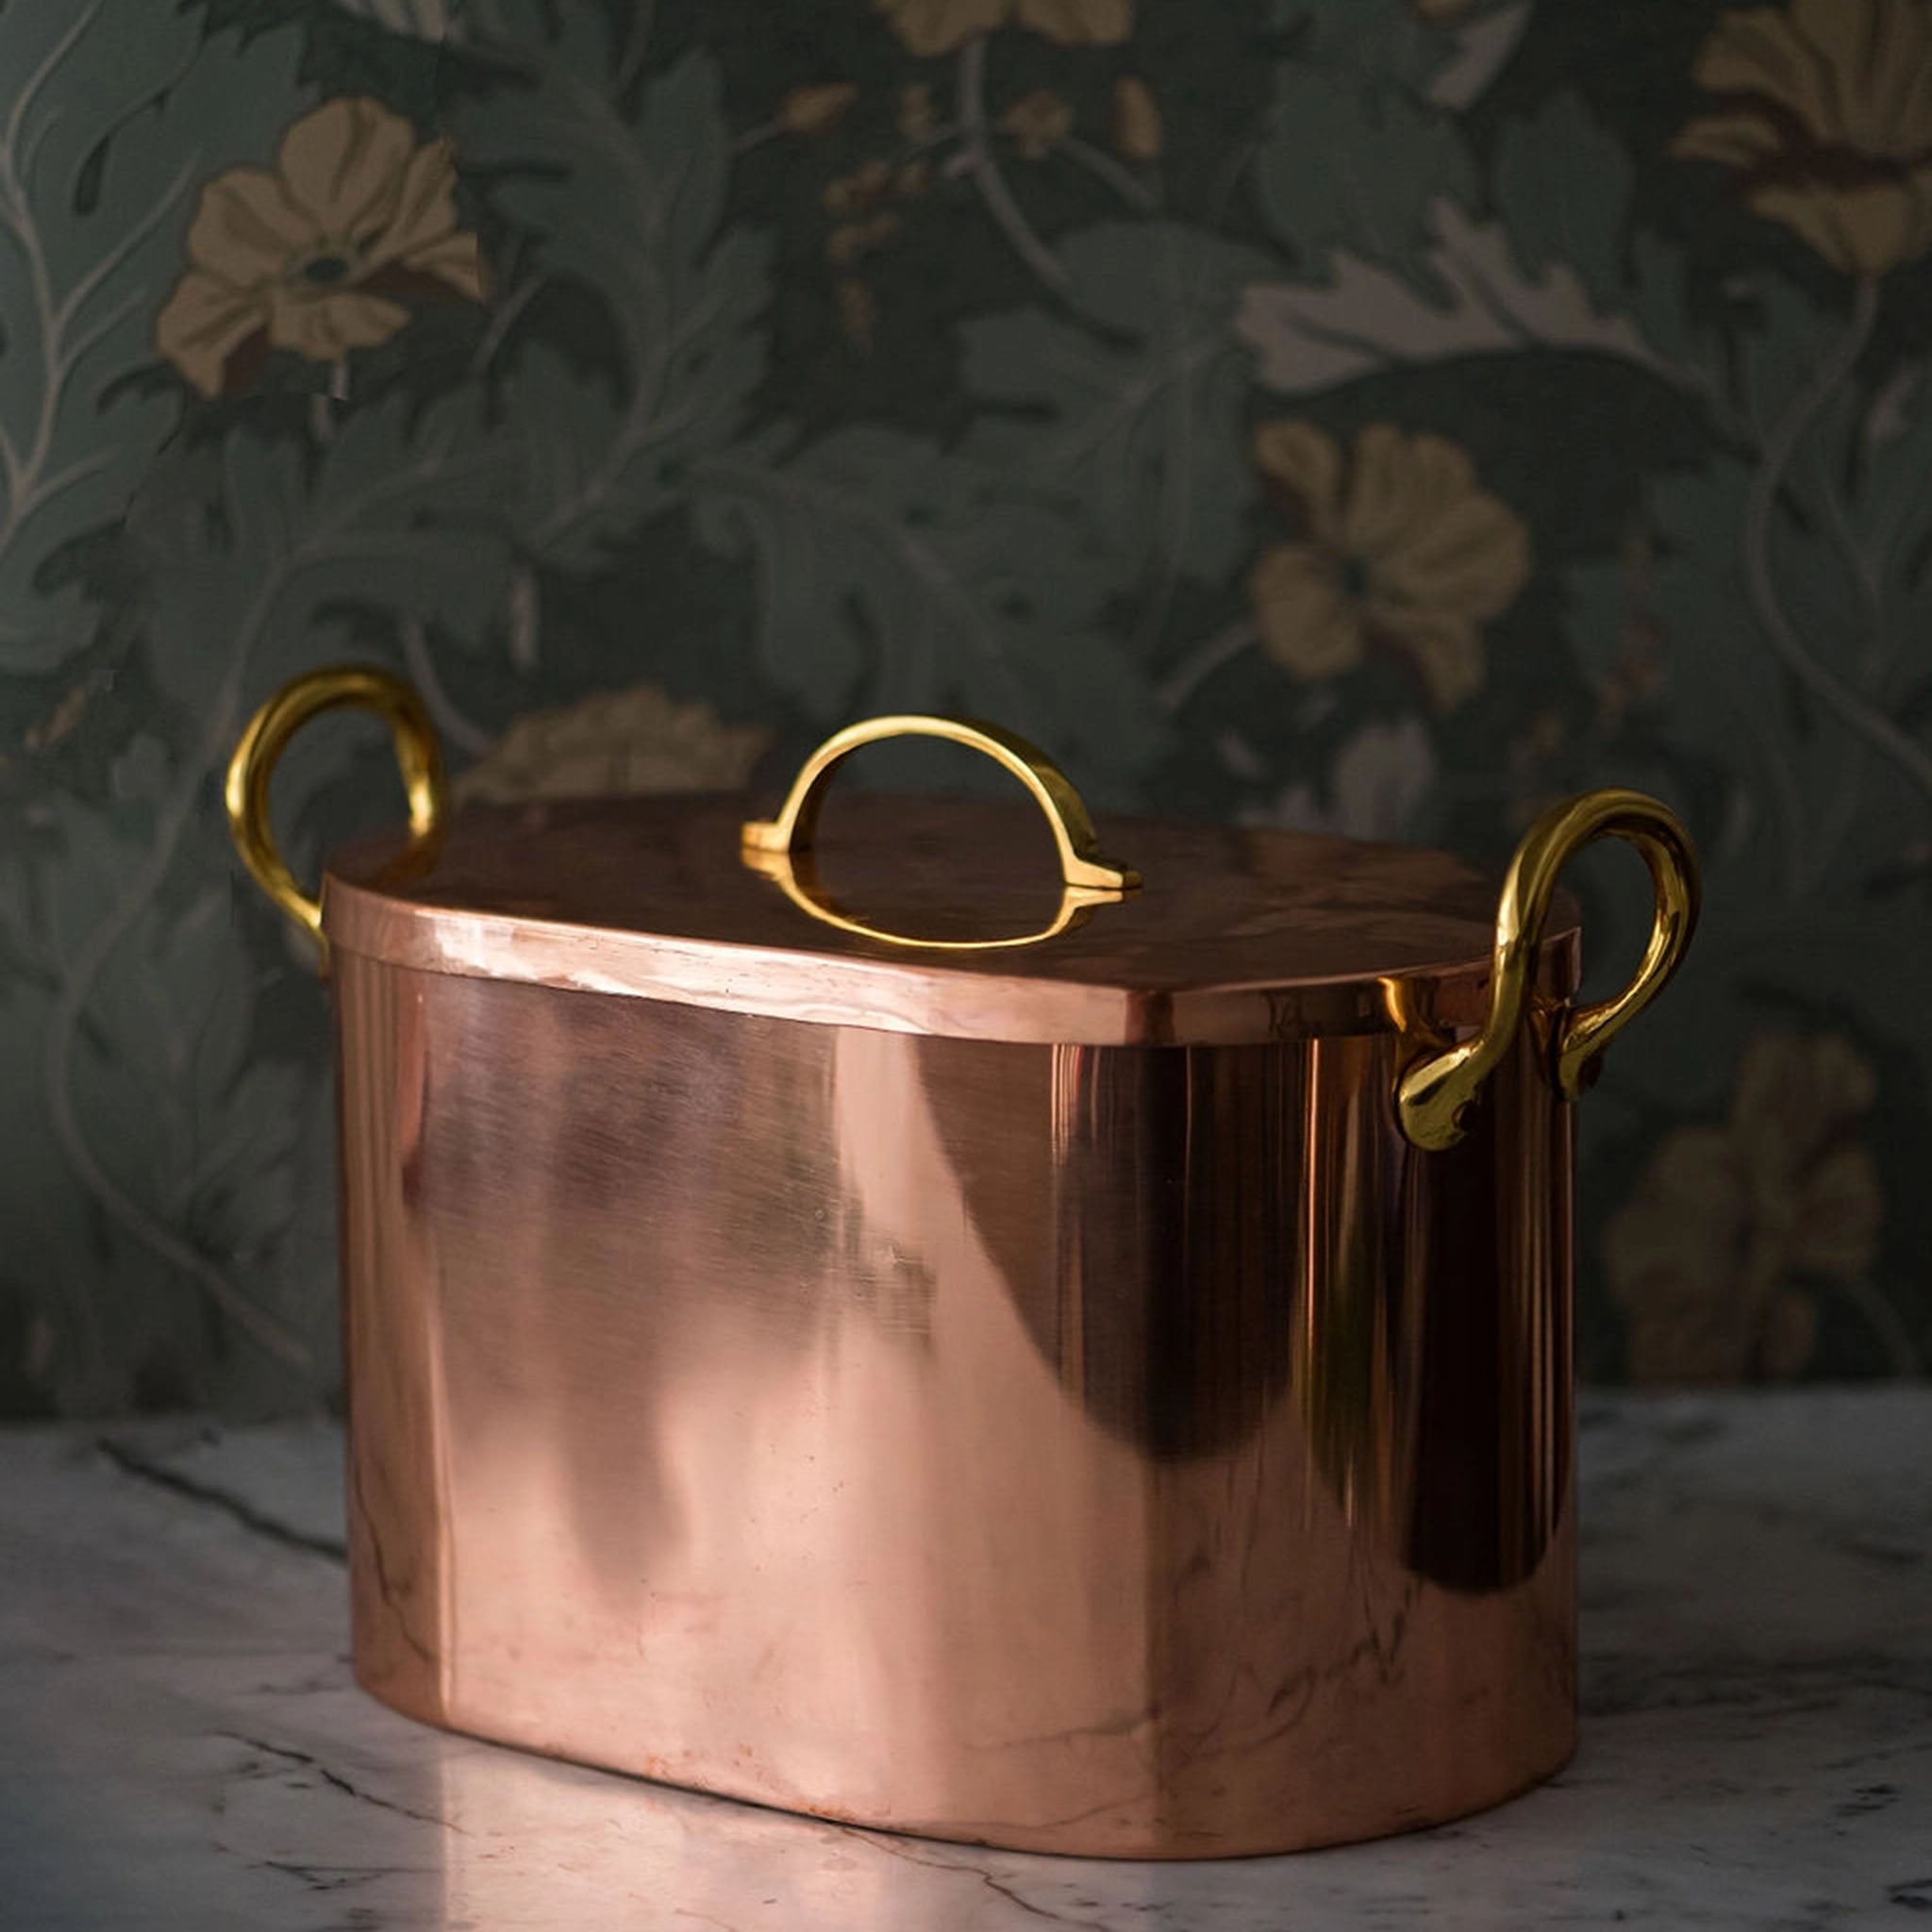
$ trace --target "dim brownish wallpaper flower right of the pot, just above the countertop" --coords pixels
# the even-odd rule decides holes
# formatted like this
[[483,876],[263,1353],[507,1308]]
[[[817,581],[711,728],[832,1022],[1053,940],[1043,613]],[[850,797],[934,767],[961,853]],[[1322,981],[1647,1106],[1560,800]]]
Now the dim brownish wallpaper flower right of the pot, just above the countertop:
[[1760,1034],[1729,1121],[1663,1138],[1604,1235],[1633,1379],[1804,1368],[1818,1312],[1801,1277],[1857,1283],[1878,1252],[1884,1196],[1861,1126],[1876,1094],[1851,1041]]

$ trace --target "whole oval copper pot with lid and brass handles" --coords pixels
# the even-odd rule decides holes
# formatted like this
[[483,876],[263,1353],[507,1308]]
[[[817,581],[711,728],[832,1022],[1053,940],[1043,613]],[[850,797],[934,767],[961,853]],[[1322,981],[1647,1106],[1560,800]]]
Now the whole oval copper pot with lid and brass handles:
[[[269,773],[336,705],[390,723],[410,825],[317,904]],[[1030,798],[844,782],[815,837],[889,736]],[[896,717],[775,819],[450,813],[419,701],[354,667],[263,707],[228,806],[334,991],[375,1696],[1138,1859],[1435,1824],[1567,1760],[1571,1101],[1690,935],[1663,806],[1557,806],[1501,881],[1130,819],[1117,864],[1041,752]],[[1656,922],[1578,1007],[1555,879],[1600,835]]]

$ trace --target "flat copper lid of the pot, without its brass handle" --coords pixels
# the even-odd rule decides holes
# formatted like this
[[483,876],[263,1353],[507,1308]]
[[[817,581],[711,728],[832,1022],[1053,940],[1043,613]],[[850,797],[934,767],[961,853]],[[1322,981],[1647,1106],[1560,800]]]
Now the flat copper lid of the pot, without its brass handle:
[[[400,875],[402,833],[330,862],[332,947],[425,972],[974,1039],[1179,1045],[1480,1024],[1497,881],[1443,852],[1304,833],[1109,819],[1140,891],[1061,900],[1026,804],[840,792],[827,904],[923,939],[864,937],[746,864],[742,796],[551,800],[456,813]],[[987,941],[1012,941],[987,945]],[[947,951],[978,943],[981,951]],[[1540,980],[1577,981],[1559,895]]]

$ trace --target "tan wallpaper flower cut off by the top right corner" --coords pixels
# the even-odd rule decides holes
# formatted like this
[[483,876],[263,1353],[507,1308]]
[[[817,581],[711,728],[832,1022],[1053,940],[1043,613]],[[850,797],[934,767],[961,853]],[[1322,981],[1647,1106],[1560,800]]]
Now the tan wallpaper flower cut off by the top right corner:
[[1671,145],[1845,274],[1932,249],[1932,8],[1793,0],[1723,14],[1692,70],[1718,110]]

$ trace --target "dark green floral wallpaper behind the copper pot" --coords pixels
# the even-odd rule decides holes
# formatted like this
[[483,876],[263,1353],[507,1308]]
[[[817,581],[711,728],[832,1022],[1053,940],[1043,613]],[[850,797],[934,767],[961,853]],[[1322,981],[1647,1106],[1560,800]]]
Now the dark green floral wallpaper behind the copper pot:
[[338,657],[483,798],[895,707],[1484,858],[1656,790],[1582,1368],[1922,1372],[1928,325],[1932,0],[0,0],[0,1412],[336,1387],[218,773]]

